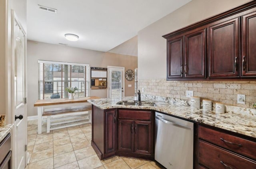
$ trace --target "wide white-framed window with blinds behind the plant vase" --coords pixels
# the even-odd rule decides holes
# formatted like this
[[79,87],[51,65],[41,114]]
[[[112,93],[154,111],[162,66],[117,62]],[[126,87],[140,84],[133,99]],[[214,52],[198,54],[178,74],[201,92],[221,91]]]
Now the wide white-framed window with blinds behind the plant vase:
[[38,99],[68,98],[66,87],[77,87],[75,98],[90,91],[90,65],[38,60]]

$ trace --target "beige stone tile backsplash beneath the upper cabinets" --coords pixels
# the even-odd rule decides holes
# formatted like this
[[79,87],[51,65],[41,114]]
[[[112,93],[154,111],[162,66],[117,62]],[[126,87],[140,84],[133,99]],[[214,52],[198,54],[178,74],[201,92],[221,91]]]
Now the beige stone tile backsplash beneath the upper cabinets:
[[[256,103],[256,81],[166,81],[147,79],[138,81],[138,89],[143,94],[188,99],[186,90],[194,91],[194,96],[223,102],[226,105],[253,108]],[[237,103],[237,94],[245,94],[245,104]]]

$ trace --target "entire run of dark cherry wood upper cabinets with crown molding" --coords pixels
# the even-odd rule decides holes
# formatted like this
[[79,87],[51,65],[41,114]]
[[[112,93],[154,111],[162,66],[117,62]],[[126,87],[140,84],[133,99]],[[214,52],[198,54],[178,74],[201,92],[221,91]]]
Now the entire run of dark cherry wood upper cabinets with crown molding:
[[256,0],[163,37],[166,80],[256,77]]

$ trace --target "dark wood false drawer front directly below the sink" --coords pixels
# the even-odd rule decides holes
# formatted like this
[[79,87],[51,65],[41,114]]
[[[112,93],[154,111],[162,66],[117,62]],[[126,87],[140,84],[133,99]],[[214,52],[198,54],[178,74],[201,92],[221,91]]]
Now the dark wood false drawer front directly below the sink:
[[147,120],[151,121],[151,111],[137,111],[137,110],[118,110],[119,119],[132,119],[132,120]]

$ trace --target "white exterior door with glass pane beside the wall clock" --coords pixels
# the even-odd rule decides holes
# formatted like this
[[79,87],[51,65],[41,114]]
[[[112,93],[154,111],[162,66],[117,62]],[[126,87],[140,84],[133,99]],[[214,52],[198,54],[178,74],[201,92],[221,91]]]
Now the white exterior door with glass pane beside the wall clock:
[[124,97],[124,67],[108,66],[108,98]]

